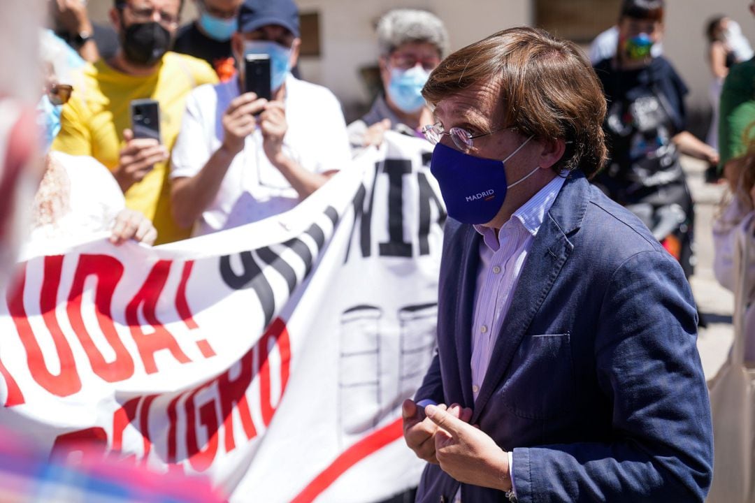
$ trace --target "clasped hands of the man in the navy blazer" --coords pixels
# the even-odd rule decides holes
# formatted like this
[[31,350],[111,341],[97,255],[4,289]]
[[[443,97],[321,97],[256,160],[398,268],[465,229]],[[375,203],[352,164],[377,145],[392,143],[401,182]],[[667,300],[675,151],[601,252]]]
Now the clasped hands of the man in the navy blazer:
[[404,440],[419,458],[459,482],[511,489],[508,454],[479,428],[469,424],[472,409],[440,404],[424,411],[412,400],[402,405]]

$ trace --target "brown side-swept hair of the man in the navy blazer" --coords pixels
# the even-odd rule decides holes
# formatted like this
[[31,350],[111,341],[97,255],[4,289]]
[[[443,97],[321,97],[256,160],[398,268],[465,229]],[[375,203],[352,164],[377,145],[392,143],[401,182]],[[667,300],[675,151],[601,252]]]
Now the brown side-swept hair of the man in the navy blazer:
[[483,81],[497,81],[504,105],[498,123],[525,136],[565,140],[557,173],[581,170],[592,178],[606,164],[606,98],[576,44],[542,29],[506,29],[442,60],[422,95],[434,106]]

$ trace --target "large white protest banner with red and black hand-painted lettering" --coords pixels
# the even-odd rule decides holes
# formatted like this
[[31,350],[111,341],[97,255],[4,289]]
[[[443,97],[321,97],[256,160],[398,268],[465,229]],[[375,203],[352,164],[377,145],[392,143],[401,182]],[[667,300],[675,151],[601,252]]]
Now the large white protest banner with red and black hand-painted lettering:
[[209,477],[231,501],[418,483],[400,406],[435,344],[445,210],[387,133],[280,216],[162,247],[28,250],[0,302],[0,426]]

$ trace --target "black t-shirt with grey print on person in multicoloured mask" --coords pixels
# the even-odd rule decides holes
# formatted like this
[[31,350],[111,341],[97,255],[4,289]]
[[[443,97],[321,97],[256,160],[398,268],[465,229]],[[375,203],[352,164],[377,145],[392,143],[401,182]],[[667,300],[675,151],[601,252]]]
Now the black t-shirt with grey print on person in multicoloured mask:
[[612,60],[595,66],[608,112],[603,129],[611,162],[597,181],[628,203],[683,176],[671,138],[686,129],[682,78],[663,57],[641,69],[618,70]]

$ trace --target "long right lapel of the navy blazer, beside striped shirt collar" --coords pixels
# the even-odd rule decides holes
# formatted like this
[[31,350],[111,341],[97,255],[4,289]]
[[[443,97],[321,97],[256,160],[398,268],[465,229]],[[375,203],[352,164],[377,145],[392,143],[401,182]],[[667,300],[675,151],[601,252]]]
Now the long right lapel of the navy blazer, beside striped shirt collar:
[[570,175],[532,241],[511,305],[501,325],[501,333],[498,333],[488,372],[474,404],[472,424],[475,424],[498,388],[532,318],[574,248],[567,236],[581,225],[589,201],[588,191],[589,183],[581,173]]

